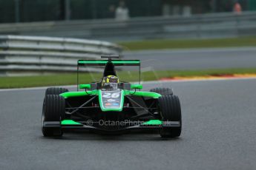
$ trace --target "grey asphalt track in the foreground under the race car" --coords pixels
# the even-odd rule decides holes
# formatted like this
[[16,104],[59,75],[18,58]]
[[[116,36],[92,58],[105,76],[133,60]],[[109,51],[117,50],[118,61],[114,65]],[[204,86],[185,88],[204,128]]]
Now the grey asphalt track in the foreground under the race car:
[[256,169],[255,84],[163,83],[183,112],[181,137],[168,140],[155,133],[42,137],[45,89],[0,90],[0,169]]

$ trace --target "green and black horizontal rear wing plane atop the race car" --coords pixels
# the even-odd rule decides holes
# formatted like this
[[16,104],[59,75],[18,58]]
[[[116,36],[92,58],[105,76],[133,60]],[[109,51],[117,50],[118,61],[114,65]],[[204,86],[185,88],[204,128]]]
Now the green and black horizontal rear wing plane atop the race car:
[[140,66],[140,60],[79,60],[77,66],[105,66],[108,62],[114,66]]

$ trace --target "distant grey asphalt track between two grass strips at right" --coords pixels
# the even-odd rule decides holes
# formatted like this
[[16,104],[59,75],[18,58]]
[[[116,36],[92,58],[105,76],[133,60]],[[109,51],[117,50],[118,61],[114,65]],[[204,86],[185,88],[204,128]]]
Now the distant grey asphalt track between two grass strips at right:
[[[124,52],[147,69],[227,69],[256,67],[255,47]],[[154,64],[152,66],[152,64]]]

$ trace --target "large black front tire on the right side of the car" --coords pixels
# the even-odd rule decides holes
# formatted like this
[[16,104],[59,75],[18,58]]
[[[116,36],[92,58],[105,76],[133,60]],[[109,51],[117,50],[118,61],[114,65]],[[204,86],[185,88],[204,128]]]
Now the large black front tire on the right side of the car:
[[179,121],[180,127],[163,127],[161,137],[179,137],[182,129],[180,99],[176,95],[165,95],[158,99],[159,112],[163,121]]

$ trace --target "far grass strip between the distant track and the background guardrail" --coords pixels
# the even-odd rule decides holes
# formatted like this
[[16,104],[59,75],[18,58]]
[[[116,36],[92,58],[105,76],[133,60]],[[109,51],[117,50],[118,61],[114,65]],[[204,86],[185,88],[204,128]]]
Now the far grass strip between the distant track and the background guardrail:
[[216,38],[216,39],[159,39],[148,41],[120,42],[125,50],[160,50],[206,47],[255,47],[256,37]]

